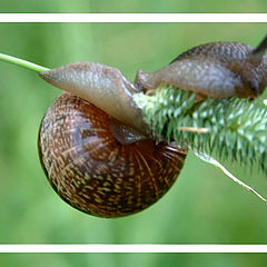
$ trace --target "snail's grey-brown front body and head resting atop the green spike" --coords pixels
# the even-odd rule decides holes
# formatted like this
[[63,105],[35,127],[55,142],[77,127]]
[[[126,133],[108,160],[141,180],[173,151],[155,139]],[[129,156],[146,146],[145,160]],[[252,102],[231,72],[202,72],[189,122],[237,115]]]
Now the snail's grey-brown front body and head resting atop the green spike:
[[266,43],[260,49],[237,42],[201,44],[155,72],[139,70],[136,83],[141,90],[171,85],[214,98],[257,97],[267,85],[265,48]]

